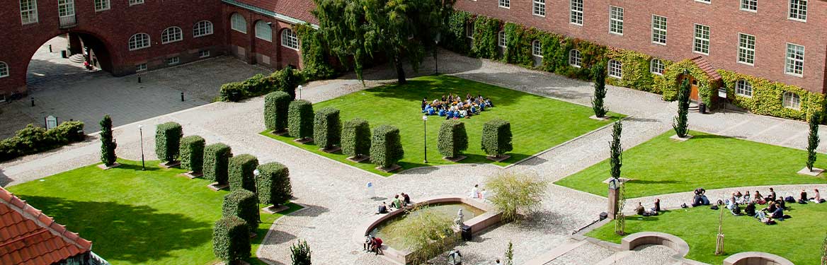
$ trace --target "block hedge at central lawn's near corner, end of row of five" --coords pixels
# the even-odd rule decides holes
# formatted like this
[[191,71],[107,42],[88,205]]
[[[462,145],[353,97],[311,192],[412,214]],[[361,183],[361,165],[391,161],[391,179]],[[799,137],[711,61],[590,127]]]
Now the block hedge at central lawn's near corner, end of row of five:
[[392,125],[380,125],[373,130],[370,145],[370,162],[383,168],[390,168],[405,155],[399,128]]

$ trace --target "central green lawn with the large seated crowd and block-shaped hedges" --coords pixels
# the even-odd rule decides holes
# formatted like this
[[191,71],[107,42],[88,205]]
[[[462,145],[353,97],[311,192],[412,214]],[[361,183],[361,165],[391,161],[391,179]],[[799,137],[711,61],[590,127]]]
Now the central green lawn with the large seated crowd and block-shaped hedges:
[[[485,121],[495,118],[511,122],[514,135],[512,141],[514,150],[509,153],[510,159],[500,166],[515,163],[528,158],[557,144],[562,144],[579,135],[600,128],[610,121],[595,121],[589,119],[594,115],[590,107],[562,102],[547,97],[540,97],[525,92],[500,88],[485,83],[478,83],[462,78],[450,76],[425,76],[411,78],[404,85],[388,85],[380,88],[371,88],[362,92],[354,92],[346,96],[337,97],[327,102],[313,105],[313,109],[331,106],[342,111],[342,123],[353,118],[362,118],[370,122],[371,127],[382,124],[399,127],[402,135],[402,145],[405,156],[399,162],[403,170],[424,166],[452,164],[442,159],[437,150],[437,132],[444,118],[430,116],[428,120],[428,164],[423,163],[423,121],[420,102],[423,97],[433,101],[448,93],[455,93],[465,97],[466,93],[480,94],[490,97],[494,108],[486,109],[479,116],[463,119],[466,123],[469,148],[465,152],[468,157],[461,163],[493,163],[485,159],[485,153],[480,148],[482,125]],[[611,113],[612,116],[620,116]],[[296,144],[292,137],[276,136],[262,132],[272,139],[293,144],[301,149],[315,154],[353,165],[372,173],[390,176],[392,173],[382,173],[375,169],[369,161],[351,163],[344,154],[326,154],[318,150],[315,144]]]

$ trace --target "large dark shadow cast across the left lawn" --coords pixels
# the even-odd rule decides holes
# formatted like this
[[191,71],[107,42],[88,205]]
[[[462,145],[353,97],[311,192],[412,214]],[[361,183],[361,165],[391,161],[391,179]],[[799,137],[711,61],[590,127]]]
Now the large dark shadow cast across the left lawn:
[[209,242],[213,235],[211,223],[159,213],[149,206],[23,197],[69,230],[92,240],[95,252],[109,260],[147,263],[170,258],[171,252],[198,247]]

